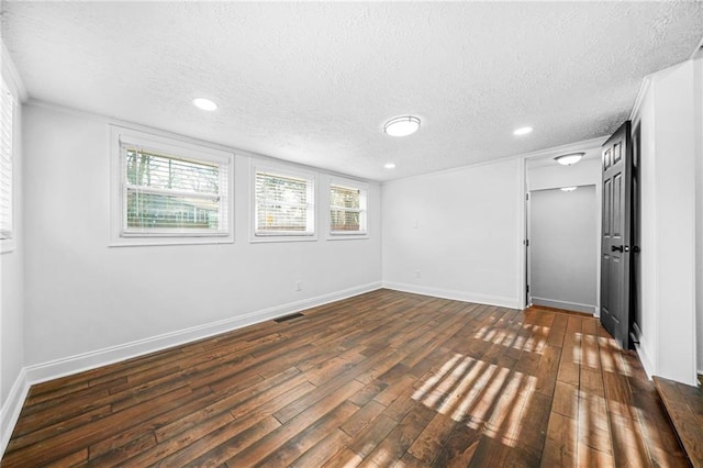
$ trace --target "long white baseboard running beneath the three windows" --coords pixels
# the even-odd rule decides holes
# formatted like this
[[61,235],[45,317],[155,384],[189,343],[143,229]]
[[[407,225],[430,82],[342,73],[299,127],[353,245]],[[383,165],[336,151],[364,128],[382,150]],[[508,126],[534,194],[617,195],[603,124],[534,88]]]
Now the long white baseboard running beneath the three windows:
[[177,332],[165,333],[135,342],[111,346],[80,355],[69,356],[26,367],[26,380],[30,385],[53,380],[85,370],[94,369],[133,357],[143,356],[161,349],[203,339],[213,335],[242,328],[255,323],[265,322],[293,312],[323,305],[330,302],[358,296],[381,288],[381,282],[371,282],[328,294],[322,294],[302,301],[250,312],[244,315],[225,319],[217,322],[198,325]]

